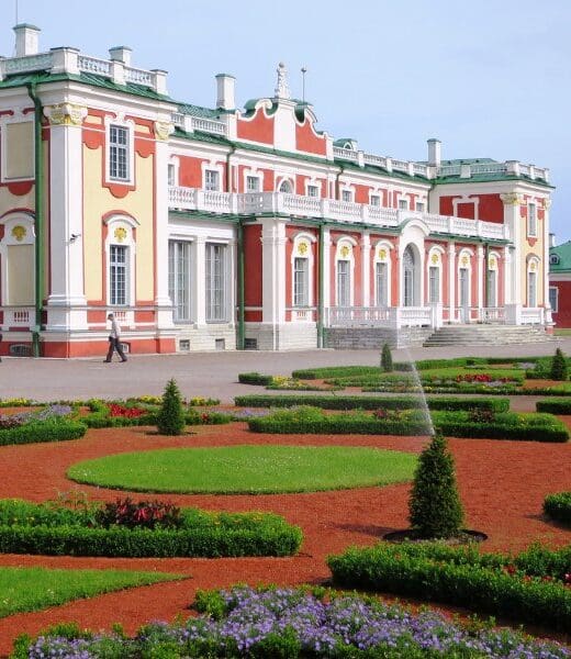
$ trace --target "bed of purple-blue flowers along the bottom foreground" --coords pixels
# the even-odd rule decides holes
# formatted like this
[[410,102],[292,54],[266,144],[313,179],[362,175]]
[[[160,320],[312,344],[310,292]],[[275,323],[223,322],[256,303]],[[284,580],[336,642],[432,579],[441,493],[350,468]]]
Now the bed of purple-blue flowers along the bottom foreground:
[[35,640],[22,638],[13,659],[74,657],[226,657],[422,659],[497,657],[563,659],[571,652],[556,643],[491,628],[462,628],[436,613],[412,615],[398,605],[315,590],[201,592],[202,615],[187,623],[152,623],[135,638],[92,635],[66,626]]

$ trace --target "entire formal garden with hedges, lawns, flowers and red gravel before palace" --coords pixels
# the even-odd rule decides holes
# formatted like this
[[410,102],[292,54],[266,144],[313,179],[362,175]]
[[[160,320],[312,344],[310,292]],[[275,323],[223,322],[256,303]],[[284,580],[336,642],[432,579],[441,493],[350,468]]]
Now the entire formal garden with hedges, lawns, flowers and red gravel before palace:
[[[0,654],[571,657],[553,362],[243,373],[275,391],[234,405],[172,380],[1,401]],[[534,381],[546,399],[511,410]]]

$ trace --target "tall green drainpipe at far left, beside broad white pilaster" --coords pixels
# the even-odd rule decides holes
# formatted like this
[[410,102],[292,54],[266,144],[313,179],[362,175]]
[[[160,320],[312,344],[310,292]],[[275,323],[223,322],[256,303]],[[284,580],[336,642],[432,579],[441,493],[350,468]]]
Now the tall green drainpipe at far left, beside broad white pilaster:
[[35,81],[25,85],[34,103],[34,206],[35,206],[35,323],[32,331],[32,354],[40,357],[40,330],[44,294],[44,149],[42,145],[43,107],[36,93]]

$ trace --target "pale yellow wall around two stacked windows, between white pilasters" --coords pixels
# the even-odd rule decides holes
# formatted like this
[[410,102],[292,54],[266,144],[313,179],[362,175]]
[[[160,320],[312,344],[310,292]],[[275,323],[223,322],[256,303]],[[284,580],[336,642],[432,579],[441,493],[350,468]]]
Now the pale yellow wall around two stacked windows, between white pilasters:
[[[123,199],[116,199],[101,185],[103,149],[90,149],[83,145],[83,241],[85,282],[88,300],[107,301],[103,291],[102,217],[114,211],[135,217],[135,294],[137,300],[154,299],[153,253],[153,158],[142,158],[135,153],[136,190]],[[135,300],[132,301],[133,303]]]

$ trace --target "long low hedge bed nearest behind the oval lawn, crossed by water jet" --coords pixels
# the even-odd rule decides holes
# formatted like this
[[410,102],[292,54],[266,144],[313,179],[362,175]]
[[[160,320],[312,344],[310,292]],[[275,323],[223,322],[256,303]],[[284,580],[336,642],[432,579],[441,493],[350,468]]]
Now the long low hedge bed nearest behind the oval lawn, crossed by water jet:
[[[317,407],[278,410],[262,418],[248,420],[255,433],[278,434],[363,434],[363,435],[428,435],[437,432],[449,437],[481,437],[488,439],[528,439],[535,442],[567,442],[566,425],[550,414],[504,412],[488,415],[485,410],[432,411],[426,418],[423,410],[383,410],[373,414],[351,412],[325,414]],[[434,426],[434,427],[433,427]]]

